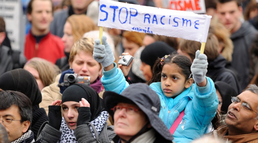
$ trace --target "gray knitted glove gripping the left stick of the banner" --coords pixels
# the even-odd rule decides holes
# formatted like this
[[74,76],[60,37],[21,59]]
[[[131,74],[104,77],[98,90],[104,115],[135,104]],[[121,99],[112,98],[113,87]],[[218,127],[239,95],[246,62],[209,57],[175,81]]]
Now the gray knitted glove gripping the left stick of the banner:
[[110,45],[107,43],[107,37],[102,36],[102,43],[100,44],[99,39],[95,39],[94,49],[93,49],[93,58],[101,63],[103,67],[107,67],[115,61],[115,57],[110,48]]

